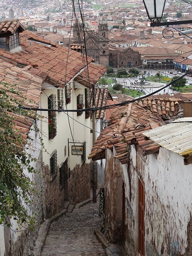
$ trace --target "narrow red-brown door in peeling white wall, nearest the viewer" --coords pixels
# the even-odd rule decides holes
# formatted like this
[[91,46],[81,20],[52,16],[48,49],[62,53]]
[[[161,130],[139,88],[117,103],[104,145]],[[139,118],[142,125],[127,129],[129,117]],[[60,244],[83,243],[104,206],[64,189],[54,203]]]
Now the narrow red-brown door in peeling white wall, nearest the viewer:
[[139,179],[139,253],[145,256],[145,191]]

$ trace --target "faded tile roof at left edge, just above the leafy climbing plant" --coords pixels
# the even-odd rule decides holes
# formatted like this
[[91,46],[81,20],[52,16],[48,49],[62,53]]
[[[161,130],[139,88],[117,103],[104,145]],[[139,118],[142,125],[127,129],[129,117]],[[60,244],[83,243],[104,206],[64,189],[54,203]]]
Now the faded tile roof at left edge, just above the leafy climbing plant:
[[[0,89],[10,86],[15,91],[23,96],[20,97],[17,94],[9,93],[10,98],[19,99],[23,103],[23,106],[27,107],[38,107],[39,99],[42,91],[42,79],[34,77],[30,73],[24,71],[22,68],[15,67],[9,63],[0,60]],[[30,127],[33,124],[33,119],[29,117],[24,117],[21,115],[16,115],[14,113],[9,113],[13,116],[16,128],[22,134],[23,139],[27,139]],[[32,117],[32,116],[31,116]]]

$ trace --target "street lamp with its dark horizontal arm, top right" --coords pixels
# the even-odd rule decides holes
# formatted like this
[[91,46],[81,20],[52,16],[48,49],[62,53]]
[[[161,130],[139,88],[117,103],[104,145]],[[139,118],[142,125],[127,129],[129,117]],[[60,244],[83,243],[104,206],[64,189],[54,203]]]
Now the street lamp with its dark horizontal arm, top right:
[[147,15],[151,21],[151,27],[169,26],[176,24],[190,24],[192,20],[178,20],[170,22],[160,22],[163,18],[165,0],[143,0]]

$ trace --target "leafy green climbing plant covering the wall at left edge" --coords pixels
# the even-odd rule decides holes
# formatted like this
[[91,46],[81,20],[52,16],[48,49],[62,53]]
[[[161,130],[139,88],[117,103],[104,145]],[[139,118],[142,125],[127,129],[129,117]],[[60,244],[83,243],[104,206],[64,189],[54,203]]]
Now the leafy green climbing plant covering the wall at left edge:
[[[24,97],[14,92],[13,87],[0,84],[0,224],[12,226],[13,220],[33,230],[36,224],[35,215],[28,213],[26,206],[33,204],[33,195],[37,193],[33,182],[24,170],[28,173],[35,173],[30,165],[32,159],[26,153],[26,140],[17,126],[19,116],[21,119],[32,120],[28,111],[19,107],[22,106]],[[30,138],[28,138],[29,143]]]

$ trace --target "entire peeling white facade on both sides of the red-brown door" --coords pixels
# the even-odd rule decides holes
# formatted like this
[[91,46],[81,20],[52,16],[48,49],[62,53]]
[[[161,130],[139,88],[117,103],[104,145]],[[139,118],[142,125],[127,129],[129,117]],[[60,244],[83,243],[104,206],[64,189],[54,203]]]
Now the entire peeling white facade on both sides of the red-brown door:
[[[127,223],[135,246],[138,241],[140,179],[145,190],[145,255],[190,255],[187,254],[187,245],[191,244],[192,238],[187,230],[192,221],[192,165],[184,165],[182,156],[164,148],[160,148],[159,154],[143,156],[134,146],[131,146],[131,163],[133,219]],[[124,177],[126,197],[129,198],[126,170]]]

